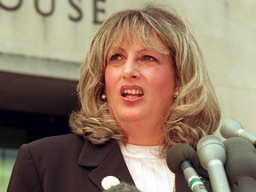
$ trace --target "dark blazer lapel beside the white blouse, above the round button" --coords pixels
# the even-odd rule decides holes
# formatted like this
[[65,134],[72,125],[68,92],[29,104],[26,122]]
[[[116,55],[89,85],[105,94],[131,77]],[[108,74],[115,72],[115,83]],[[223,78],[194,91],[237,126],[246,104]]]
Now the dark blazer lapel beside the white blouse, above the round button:
[[120,182],[134,185],[116,140],[109,140],[101,145],[92,145],[92,143],[85,140],[78,164],[85,167],[94,167],[89,174],[89,178],[100,190],[103,189],[101,180],[107,176],[114,176]]

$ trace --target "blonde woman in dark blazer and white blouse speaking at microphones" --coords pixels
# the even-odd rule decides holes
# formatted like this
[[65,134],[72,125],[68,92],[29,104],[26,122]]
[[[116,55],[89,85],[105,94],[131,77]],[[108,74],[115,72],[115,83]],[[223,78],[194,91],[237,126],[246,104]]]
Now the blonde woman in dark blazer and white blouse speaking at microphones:
[[[196,148],[220,107],[196,39],[177,13],[148,4],[116,12],[92,39],[70,116],[75,134],[23,145],[9,191],[189,191],[166,151]],[[110,176],[110,177],[109,177]],[[107,180],[107,181],[106,181]]]

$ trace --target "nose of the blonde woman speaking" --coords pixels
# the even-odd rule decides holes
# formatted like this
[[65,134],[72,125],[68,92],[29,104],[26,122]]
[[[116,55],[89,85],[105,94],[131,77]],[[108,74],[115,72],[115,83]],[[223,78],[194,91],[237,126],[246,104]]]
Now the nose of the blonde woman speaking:
[[140,78],[140,70],[136,60],[126,60],[124,64],[123,78]]

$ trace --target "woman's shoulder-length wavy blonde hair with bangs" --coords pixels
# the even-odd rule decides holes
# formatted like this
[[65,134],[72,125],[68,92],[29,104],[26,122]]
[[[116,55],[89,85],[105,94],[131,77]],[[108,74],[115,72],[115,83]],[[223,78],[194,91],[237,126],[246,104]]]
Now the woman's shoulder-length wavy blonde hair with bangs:
[[155,50],[149,35],[156,36],[169,50],[179,92],[164,114],[164,147],[185,142],[196,148],[198,140],[216,131],[220,106],[202,52],[186,22],[170,10],[159,4],[148,4],[141,9],[116,12],[100,26],[81,67],[77,86],[80,107],[69,118],[72,132],[93,144],[109,139],[127,141],[108,112],[108,101],[100,97],[104,92],[106,57],[110,47],[134,36],[148,49]]

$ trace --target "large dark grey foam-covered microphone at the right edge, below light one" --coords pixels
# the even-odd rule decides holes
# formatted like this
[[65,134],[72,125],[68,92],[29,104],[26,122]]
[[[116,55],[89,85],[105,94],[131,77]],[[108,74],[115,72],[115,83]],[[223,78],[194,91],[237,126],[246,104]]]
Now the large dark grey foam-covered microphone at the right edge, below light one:
[[225,164],[232,191],[247,192],[256,188],[256,148],[244,138],[230,138],[223,142],[227,148]]

